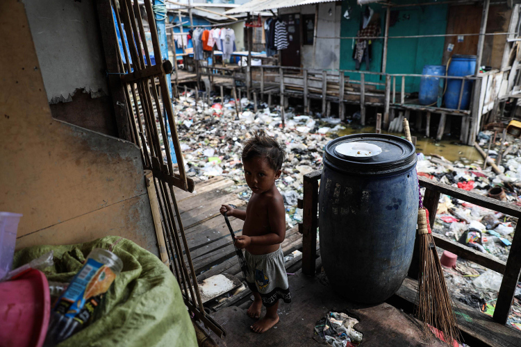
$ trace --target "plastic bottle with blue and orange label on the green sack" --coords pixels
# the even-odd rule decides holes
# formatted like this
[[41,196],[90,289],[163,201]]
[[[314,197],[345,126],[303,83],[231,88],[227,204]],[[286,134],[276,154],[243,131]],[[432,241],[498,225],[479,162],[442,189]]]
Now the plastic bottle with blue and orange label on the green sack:
[[122,269],[123,262],[117,255],[106,249],[94,248],[56,301],[44,347],[56,346],[85,328],[92,321],[102,296]]

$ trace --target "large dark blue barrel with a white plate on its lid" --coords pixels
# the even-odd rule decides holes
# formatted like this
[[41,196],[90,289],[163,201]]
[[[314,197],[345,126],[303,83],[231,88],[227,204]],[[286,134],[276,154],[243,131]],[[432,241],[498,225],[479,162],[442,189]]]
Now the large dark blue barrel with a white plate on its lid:
[[[382,152],[361,161],[336,151],[353,142]],[[404,281],[416,234],[416,161],[413,144],[392,135],[347,135],[326,144],[320,255],[333,290],[349,301],[385,301]]]

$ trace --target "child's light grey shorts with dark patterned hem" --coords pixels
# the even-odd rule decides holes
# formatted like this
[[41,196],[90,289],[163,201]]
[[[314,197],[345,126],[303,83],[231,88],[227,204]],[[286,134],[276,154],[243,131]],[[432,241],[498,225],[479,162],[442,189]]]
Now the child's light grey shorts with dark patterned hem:
[[291,303],[282,248],[261,255],[253,255],[245,251],[245,259],[249,270],[246,278],[248,287],[254,293],[261,294],[265,307],[274,305],[279,299]]

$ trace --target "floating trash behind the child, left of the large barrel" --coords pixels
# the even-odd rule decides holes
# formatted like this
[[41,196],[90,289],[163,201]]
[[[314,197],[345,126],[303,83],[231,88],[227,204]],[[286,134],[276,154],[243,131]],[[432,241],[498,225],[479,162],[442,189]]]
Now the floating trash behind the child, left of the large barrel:
[[244,188],[239,197],[247,201],[251,192],[242,171],[242,144],[249,132],[263,129],[286,145],[288,155],[276,185],[284,197],[287,224],[296,226],[302,221],[296,206],[303,193],[303,176],[321,168],[324,146],[344,127],[340,119],[313,119],[289,109],[283,129],[279,106],[270,109],[263,103],[254,112],[248,99],[242,98],[240,103],[242,111],[237,114],[233,99],[225,97],[223,107],[220,103],[208,107],[201,99],[196,105],[190,94],[181,96],[174,108],[187,174],[196,182],[215,176],[230,178],[234,189]]

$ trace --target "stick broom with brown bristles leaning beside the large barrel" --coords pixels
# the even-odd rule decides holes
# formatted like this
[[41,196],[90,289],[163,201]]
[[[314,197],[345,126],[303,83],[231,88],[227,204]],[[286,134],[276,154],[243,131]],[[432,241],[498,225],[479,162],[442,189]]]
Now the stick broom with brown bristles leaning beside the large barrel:
[[[410,142],[411,130],[407,119],[404,118],[406,139]],[[418,183],[418,189],[420,188]],[[429,339],[430,332],[438,329],[438,337],[449,346],[456,346],[461,333],[456,322],[456,315],[452,309],[452,298],[447,290],[447,283],[443,277],[443,269],[432,237],[429,224],[429,211],[423,207],[420,193],[420,208],[418,210],[418,237],[420,246],[420,272],[418,273],[417,316],[424,322],[424,338]],[[433,212],[433,213],[436,213]],[[435,333],[436,334],[436,333]]]

